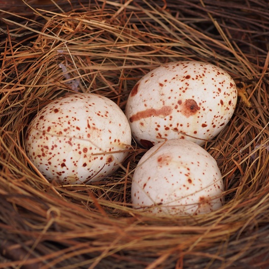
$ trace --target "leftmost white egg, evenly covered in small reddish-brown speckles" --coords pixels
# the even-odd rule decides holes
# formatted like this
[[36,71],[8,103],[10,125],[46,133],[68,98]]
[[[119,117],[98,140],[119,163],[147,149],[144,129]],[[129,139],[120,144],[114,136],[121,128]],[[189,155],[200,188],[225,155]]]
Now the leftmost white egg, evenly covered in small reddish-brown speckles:
[[109,98],[77,93],[53,100],[31,121],[26,154],[50,181],[90,183],[115,172],[131,143],[122,110]]

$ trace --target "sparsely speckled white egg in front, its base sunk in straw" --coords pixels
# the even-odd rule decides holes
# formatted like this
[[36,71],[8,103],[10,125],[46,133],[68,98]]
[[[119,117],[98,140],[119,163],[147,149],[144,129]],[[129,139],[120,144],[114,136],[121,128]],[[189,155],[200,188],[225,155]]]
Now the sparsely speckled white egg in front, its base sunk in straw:
[[223,181],[216,160],[197,144],[172,139],[140,159],[131,185],[136,209],[154,215],[196,215],[223,205]]

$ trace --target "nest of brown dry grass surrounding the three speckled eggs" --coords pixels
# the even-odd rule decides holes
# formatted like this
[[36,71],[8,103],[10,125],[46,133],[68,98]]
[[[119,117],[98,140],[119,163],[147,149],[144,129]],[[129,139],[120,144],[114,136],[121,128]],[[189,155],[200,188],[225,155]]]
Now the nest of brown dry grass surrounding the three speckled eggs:
[[[27,19],[2,11],[3,268],[269,266],[269,11],[246,2],[59,1],[33,4]],[[124,111],[143,75],[177,60],[213,63],[239,87],[230,122],[203,146],[223,176],[221,209],[165,218],[132,209],[131,178],[146,151],[135,142],[116,173],[90,185],[48,182],[31,165],[25,131],[51,100],[93,92]]]

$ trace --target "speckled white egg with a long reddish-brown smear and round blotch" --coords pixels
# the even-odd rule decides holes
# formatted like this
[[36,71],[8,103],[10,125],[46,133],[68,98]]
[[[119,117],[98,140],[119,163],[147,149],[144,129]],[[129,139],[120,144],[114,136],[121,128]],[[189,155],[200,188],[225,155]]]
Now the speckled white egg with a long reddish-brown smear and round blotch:
[[178,61],[146,74],[131,90],[125,110],[133,138],[146,148],[176,138],[203,145],[226,126],[236,103],[236,84],[225,71]]

